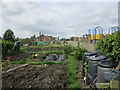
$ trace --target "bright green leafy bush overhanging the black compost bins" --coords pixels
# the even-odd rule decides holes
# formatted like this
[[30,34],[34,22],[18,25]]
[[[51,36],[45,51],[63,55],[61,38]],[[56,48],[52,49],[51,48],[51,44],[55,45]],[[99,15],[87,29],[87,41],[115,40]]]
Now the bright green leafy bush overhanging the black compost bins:
[[120,31],[97,42],[97,49],[106,53],[113,60],[120,61]]

